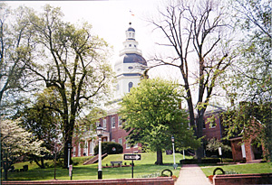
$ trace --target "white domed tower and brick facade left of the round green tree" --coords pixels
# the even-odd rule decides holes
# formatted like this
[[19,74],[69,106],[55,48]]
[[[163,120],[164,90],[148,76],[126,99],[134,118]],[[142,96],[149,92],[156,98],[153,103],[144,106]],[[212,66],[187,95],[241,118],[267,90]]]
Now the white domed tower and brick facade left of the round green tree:
[[[112,141],[121,143],[123,153],[135,153],[139,151],[136,144],[131,147],[125,143],[125,137],[128,135],[126,131],[121,129],[121,117],[118,116],[118,102],[121,97],[130,92],[133,86],[137,86],[140,82],[141,75],[147,66],[146,60],[141,56],[141,50],[138,49],[138,42],[135,40],[135,30],[130,27],[125,32],[126,40],[123,42],[123,50],[120,51],[119,59],[114,64],[114,72],[116,74],[116,89],[112,103],[107,105],[107,116],[102,117],[97,125],[101,124],[104,128],[102,135],[103,141]],[[85,132],[82,138],[73,139],[73,156],[93,155],[93,148],[97,141],[93,141],[93,133]]]

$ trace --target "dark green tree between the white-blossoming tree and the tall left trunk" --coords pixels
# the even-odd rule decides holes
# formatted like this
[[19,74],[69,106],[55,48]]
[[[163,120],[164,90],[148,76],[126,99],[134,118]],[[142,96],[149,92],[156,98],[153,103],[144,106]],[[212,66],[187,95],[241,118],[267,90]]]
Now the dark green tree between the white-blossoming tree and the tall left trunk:
[[[17,113],[25,130],[31,132],[36,138],[44,141],[44,146],[51,153],[54,152],[55,142],[61,140],[61,116],[54,107],[61,106],[60,98],[53,88],[45,88],[43,93],[37,93],[32,97],[31,105],[26,105]],[[29,155],[31,161],[44,169],[44,157]]]

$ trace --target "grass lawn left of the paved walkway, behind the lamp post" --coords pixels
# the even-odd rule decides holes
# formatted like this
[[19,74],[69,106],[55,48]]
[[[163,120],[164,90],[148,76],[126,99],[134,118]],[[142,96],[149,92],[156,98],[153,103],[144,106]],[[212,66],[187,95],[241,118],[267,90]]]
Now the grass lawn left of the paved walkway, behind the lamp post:
[[[180,164],[183,156],[176,153],[176,163]],[[97,179],[97,163],[90,165],[83,165],[82,159],[73,158],[73,162],[78,162],[79,165],[73,166],[73,180],[96,180]],[[110,165],[112,161],[123,161],[129,164],[131,161],[124,161],[122,154],[108,155],[102,160],[102,166]],[[134,178],[142,177],[143,175],[150,175],[152,173],[161,172],[164,169],[173,171],[173,175],[179,176],[180,165],[177,170],[173,169],[173,156],[163,154],[163,162],[166,165],[155,165],[156,153],[141,153],[141,161],[134,161]],[[52,161],[46,161],[52,165]],[[15,169],[23,168],[23,165],[28,164],[29,171],[24,172],[9,172],[8,180],[53,180],[53,168],[39,169],[35,163],[21,162],[15,164]],[[103,179],[122,179],[131,178],[131,167],[121,168],[103,168]],[[70,180],[68,170],[57,168],[57,180]]]

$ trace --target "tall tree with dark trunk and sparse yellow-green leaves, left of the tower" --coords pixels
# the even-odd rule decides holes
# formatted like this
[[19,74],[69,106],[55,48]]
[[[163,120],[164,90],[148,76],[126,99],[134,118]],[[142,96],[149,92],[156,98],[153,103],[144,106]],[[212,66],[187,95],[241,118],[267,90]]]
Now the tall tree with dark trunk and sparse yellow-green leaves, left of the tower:
[[64,166],[68,162],[68,143],[80,110],[92,109],[107,93],[112,71],[106,60],[107,43],[92,34],[88,23],[73,25],[62,21],[60,8],[44,6],[42,14],[30,14],[35,33],[34,60],[26,61],[37,80],[56,89],[61,106],[52,107],[62,117]]

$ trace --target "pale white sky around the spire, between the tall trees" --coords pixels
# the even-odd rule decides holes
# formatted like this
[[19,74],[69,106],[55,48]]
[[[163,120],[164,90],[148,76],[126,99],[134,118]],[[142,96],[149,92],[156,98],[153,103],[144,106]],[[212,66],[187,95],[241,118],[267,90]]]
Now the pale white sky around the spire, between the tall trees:
[[129,23],[135,29],[136,41],[144,58],[149,58],[157,47],[156,34],[146,20],[157,14],[158,0],[109,0],[109,1],[6,1],[12,8],[19,5],[33,7],[42,11],[46,4],[61,7],[64,21],[78,23],[87,21],[92,24],[92,32],[99,35],[113,47],[112,64],[123,49],[125,31]]

